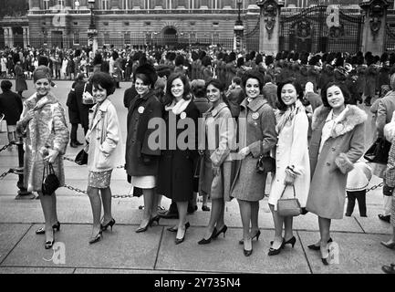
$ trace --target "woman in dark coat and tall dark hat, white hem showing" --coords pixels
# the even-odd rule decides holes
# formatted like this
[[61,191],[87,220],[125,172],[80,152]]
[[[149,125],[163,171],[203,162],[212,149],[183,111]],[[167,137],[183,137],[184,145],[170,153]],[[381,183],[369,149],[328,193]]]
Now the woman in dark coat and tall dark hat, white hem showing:
[[158,75],[149,64],[141,65],[133,76],[137,96],[130,101],[128,111],[128,136],[126,140],[126,172],[133,187],[142,189],[144,213],[137,233],[147,231],[156,221],[158,196],[154,188],[158,174],[161,148],[151,145],[150,138],[154,129],[148,125],[153,119],[161,120],[161,101],[154,95],[153,87]]

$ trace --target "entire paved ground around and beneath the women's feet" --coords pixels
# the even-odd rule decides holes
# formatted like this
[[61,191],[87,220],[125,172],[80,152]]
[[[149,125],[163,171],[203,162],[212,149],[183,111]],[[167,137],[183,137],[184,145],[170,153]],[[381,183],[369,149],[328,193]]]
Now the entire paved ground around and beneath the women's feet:
[[[116,105],[126,137],[126,113],[122,106],[124,89],[130,84],[121,83],[112,101]],[[28,81],[33,92],[32,82]],[[70,82],[57,81],[54,89],[63,104],[66,103]],[[28,94],[25,93],[27,96]],[[371,136],[369,123],[367,135]],[[371,138],[368,137],[367,145]],[[82,130],[78,140],[83,141]],[[5,133],[0,133],[0,147],[6,144]],[[79,149],[68,148],[67,156],[75,157]],[[17,151],[0,152],[0,174],[17,164]],[[65,162],[67,183],[84,190],[88,172],[84,166]],[[121,169],[113,173],[111,189],[113,194],[128,194],[130,186]],[[210,245],[197,245],[203,237],[204,226],[209,213],[199,209],[189,215],[192,227],[186,233],[181,245],[174,245],[174,234],[166,228],[175,220],[163,220],[146,233],[136,234],[142,211],[142,198],[113,199],[113,215],[117,221],[112,232],[105,232],[103,240],[88,245],[91,211],[87,195],[61,188],[57,192],[57,210],[61,222],[56,234],[56,250],[44,249],[44,236],[35,231],[43,224],[39,200],[16,201],[15,174],[8,174],[0,180],[0,273],[296,273],[296,274],[376,274],[380,267],[395,261],[393,250],[380,245],[391,234],[390,224],[379,221],[381,212],[381,188],[367,195],[368,218],[359,216],[358,206],[351,217],[335,220],[332,224],[332,238],[339,246],[339,263],[323,266],[319,253],[307,248],[317,241],[318,225],[314,214],[295,219],[295,248],[287,246],[280,255],[268,256],[269,242],[274,235],[273,219],[268,211],[267,201],[260,204],[259,224],[262,235],[254,242],[250,257],[243,255],[242,225],[235,201],[227,203],[225,222],[229,229],[226,237],[220,236]],[[374,177],[370,186],[380,183]],[[169,200],[163,198],[162,205],[169,207]],[[201,206],[201,203],[199,203]],[[61,251],[65,251],[64,254]]]

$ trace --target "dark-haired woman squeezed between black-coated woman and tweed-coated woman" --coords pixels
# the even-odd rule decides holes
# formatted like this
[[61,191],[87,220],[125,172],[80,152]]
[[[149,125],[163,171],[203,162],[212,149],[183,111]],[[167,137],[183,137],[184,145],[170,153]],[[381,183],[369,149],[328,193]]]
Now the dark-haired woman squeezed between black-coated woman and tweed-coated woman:
[[[199,245],[207,245],[223,233],[227,226],[223,221],[225,202],[230,201],[232,163],[230,151],[235,150],[235,123],[231,110],[223,101],[223,84],[219,79],[211,79],[206,84],[207,99],[212,107],[203,113],[205,132],[199,139],[203,156],[200,168],[199,193],[210,194],[212,210],[210,221]],[[218,131],[217,131],[218,129]]]

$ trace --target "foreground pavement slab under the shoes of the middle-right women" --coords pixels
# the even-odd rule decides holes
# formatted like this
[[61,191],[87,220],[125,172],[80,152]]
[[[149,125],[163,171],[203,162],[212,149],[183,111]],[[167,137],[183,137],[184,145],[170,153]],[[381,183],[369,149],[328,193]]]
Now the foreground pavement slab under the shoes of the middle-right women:
[[[242,229],[228,228],[226,237],[220,235],[209,245],[197,245],[203,238],[204,228],[191,227],[187,230],[185,241],[174,244],[175,233],[163,233],[156,268],[174,271],[209,271],[213,273],[310,273],[307,260],[300,245],[286,247],[281,256],[268,256],[269,238],[273,231],[262,230],[261,240],[253,242],[253,254],[246,257]],[[263,240],[262,240],[263,239]]]

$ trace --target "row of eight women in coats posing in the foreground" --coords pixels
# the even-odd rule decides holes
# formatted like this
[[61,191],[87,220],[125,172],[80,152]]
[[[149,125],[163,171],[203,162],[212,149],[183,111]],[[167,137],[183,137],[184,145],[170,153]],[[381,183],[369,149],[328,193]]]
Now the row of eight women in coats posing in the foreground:
[[[156,79],[156,71],[151,65],[145,64],[136,69],[134,86],[137,96],[130,102],[127,119],[125,169],[128,181],[142,189],[144,198],[144,211],[136,233],[145,232],[154,223],[159,224],[157,200],[162,194],[177,204],[178,223],[168,230],[175,234],[175,244],[181,244],[190,226],[186,220],[188,201],[192,199],[193,192],[208,193],[212,199],[212,210],[198,244],[210,244],[219,235],[225,235],[224,205],[236,198],[243,224],[243,238],[239,243],[244,246],[244,255],[251,255],[253,240],[258,240],[261,234],[259,201],[265,196],[267,175],[267,172],[256,172],[256,162],[262,155],[272,155],[275,157],[275,173],[268,203],[273,214],[275,235],[268,255],[278,255],[287,244],[294,246],[296,243],[293,217],[284,217],[277,212],[280,197],[296,196],[303,214],[311,212],[318,216],[320,240],[308,247],[320,250],[322,261],[327,265],[330,223],[332,219],[342,218],[347,173],[364,151],[363,123],[367,115],[357,106],[348,104],[348,90],[342,85],[329,83],[322,91],[323,106],[314,112],[313,134],[308,143],[309,122],[301,102],[303,91],[294,79],[278,85],[278,109],[274,110],[262,95],[264,80],[261,73],[247,71],[243,78],[246,98],[240,105],[237,120],[232,119],[224,98],[223,84],[218,79],[205,83],[206,98],[211,106],[203,115],[193,101],[190,82],[185,75],[173,73],[167,79],[166,94],[161,101],[153,91]],[[27,109],[40,109],[36,106],[42,103],[40,100],[45,96],[52,97],[49,89],[41,90],[43,81],[49,84],[49,76],[35,78],[37,93],[25,103],[27,108],[19,125],[27,130],[32,126],[29,120],[43,119]],[[90,82],[98,102],[91,109],[86,137],[88,196],[93,212],[89,243],[92,244],[101,239],[102,231],[115,224],[110,208],[109,181],[115,162],[119,161],[121,147],[117,113],[107,99],[114,92],[114,84],[106,73],[95,73]],[[56,100],[53,102],[58,104]],[[152,127],[155,118],[163,122]],[[203,118],[202,127],[199,118]],[[58,138],[51,140],[54,145],[44,143],[49,155],[43,158],[60,163],[68,142],[68,130],[64,118],[55,119],[55,137]],[[185,129],[189,130],[188,134]],[[199,136],[202,133],[204,137]],[[152,137],[159,140],[161,147],[153,142]],[[38,153],[26,153],[38,159]],[[35,165],[41,168],[36,169],[38,175],[42,174],[42,165],[42,162]],[[57,173],[61,171],[61,166],[56,168]],[[198,190],[193,184],[196,172],[200,177]],[[26,178],[31,183],[31,177]],[[37,180],[35,182],[33,190],[40,193],[41,184]],[[104,207],[101,223],[99,191]],[[55,194],[49,197],[53,201],[46,203],[46,196],[40,193],[46,226],[37,231],[46,234],[46,248],[53,244],[53,228],[59,229]]]

